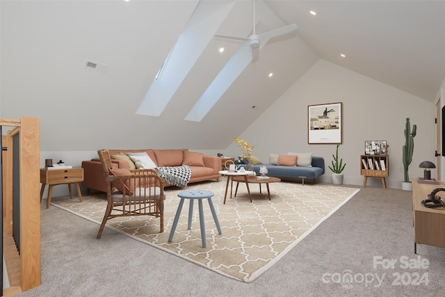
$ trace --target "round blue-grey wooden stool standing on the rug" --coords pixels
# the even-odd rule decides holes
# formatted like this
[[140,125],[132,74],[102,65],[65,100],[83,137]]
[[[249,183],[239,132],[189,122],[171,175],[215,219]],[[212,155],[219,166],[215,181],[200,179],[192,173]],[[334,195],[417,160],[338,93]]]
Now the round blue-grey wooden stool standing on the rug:
[[184,204],[185,199],[190,199],[190,206],[188,208],[188,225],[187,230],[191,230],[192,225],[192,214],[193,214],[193,200],[198,200],[198,206],[200,208],[200,227],[201,227],[201,240],[202,247],[206,247],[206,227],[204,222],[204,211],[202,209],[202,200],[207,199],[209,201],[209,206],[211,210],[211,214],[213,216],[213,220],[215,220],[216,228],[218,229],[218,234],[222,234],[220,223],[218,222],[218,218],[216,217],[215,207],[213,207],[213,203],[211,202],[211,197],[213,197],[213,192],[211,191],[200,191],[200,190],[190,190],[190,191],[182,191],[178,193],[178,197],[181,198],[179,202],[178,209],[176,211],[175,220],[173,220],[172,230],[170,231],[170,236],[168,236],[168,242],[172,242],[173,235],[175,234],[176,225],[179,220],[179,216],[181,215],[182,206]]

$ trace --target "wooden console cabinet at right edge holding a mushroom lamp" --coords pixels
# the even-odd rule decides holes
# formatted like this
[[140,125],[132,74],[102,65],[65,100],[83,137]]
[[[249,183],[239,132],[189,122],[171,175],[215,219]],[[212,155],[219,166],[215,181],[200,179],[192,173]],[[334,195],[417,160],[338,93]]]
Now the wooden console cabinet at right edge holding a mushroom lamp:
[[445,188],[445,184],[443,182],[419,184],[417,179],[412,179],[415,254],[417,253],[417,243],[445,248],[445,207],[432,209],[424,207],[421,203],[422,200],[428,199],[428,194],[435,188]]

